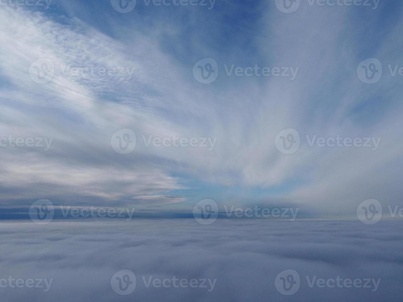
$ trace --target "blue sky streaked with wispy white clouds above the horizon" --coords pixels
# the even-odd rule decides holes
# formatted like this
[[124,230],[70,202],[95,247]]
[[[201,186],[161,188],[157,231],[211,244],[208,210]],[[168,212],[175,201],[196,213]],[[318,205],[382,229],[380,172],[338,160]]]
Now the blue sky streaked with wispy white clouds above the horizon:
[[0,5],[2,206],[403,205],[401,1],[39,3]]

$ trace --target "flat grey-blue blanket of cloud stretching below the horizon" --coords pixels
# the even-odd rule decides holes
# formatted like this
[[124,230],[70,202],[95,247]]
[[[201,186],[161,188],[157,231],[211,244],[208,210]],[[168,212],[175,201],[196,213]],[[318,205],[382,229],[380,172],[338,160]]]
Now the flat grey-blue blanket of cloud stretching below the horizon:
[[[403,223],[218,219],[64,220],[0,223],[1,278],[53,279],[43,288],[0,288],[2,301],[401,301]],[[116,294],[112,276],[136,275]],[[276,276],[293,269],[299,290],[285,296]],[[142,277],[217,279],[214,289],[146,288]],[[378,288],[312,288],[314,276],[378,280]],[[3,284],[3,283],[2,283]],[[3,284],[4,285],[4,284]]]

